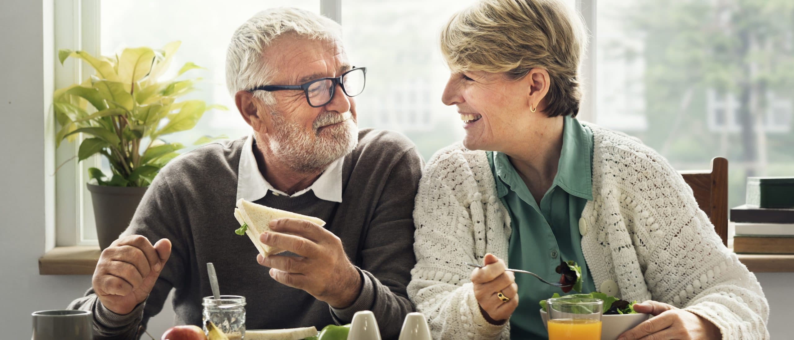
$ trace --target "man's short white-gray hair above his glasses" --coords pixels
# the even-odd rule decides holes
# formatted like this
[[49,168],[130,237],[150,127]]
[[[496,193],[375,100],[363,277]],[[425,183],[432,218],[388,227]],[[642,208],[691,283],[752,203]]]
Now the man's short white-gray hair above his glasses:
[[[341,39],[341,26],[327,17],[308,10],[279,7],[263,10],[245,21],[234,34],[226,51],[226,88],[237,91],[267,84],[276,70],[267,63],[263,51],[284,33],[294,32],[312,40]],[[269,92],[258,91],[267,105],[274,100]]]

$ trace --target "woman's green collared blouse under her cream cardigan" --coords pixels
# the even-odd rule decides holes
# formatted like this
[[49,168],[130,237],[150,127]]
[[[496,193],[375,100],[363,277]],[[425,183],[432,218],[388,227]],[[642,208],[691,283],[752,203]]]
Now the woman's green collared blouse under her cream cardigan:
[[[556,282],[560,274],[554,269],[560,265],[560,260],[573,260],[582,268],[582,292],[595,292],[582,255],[579,231],[584,204],[592,201],[592,153],[590,128],[580,124],[576,118],[566,116],[557,174],[538,204],[507,155],[488,151],[488,165],[495,178],[496,192],[511,217],[512,234],[508,250],[511,268],[529,270],[547,281]],[[545,285],[526,274],[517,273],[515,282],[519,303],[510,319],[511,338],[548,338],[538,313],[538,302],[555,292],[566,294],[560,288]]]

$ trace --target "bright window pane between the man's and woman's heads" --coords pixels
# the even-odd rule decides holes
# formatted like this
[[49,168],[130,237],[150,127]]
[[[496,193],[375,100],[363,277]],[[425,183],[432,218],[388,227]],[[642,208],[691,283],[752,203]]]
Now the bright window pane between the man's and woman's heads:
[[441,59],[441,25],[472,0],[344,0],[342,26],[351,63],[367,67],[356,97],[359,126],[403,132],[429,159],[463,137],[455,107],[441,103],[449,69]]

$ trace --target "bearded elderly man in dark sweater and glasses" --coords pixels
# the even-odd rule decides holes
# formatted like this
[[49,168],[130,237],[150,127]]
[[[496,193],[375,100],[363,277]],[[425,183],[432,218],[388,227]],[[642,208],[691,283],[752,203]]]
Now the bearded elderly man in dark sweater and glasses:
[[[94,312],[98,338],[135,338],[175,288],[175,323],[199,325],[213,262],[221,293],[245,296],[248,329],[319,328],[370,310],[384,338],[396,338],[413,311],[406,285],[422,159],[399,134],[357,129],[352,97],[365,71],[328,18],[275,9],[241,25],[226,78],[252,136],[166,166],[71,308]],[[260,240],[301,256],[262,258],[234,233],[240,198],[326,225],[276,220],[283,233]]]

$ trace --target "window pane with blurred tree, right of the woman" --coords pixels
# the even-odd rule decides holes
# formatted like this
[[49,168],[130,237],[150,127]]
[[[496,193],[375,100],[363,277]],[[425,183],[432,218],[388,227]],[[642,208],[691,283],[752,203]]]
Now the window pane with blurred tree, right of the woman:
[[599,0],[597,123],[640,137],[678,170],[730,160],[746,177],[794,174],[794,12],[788,2]]

